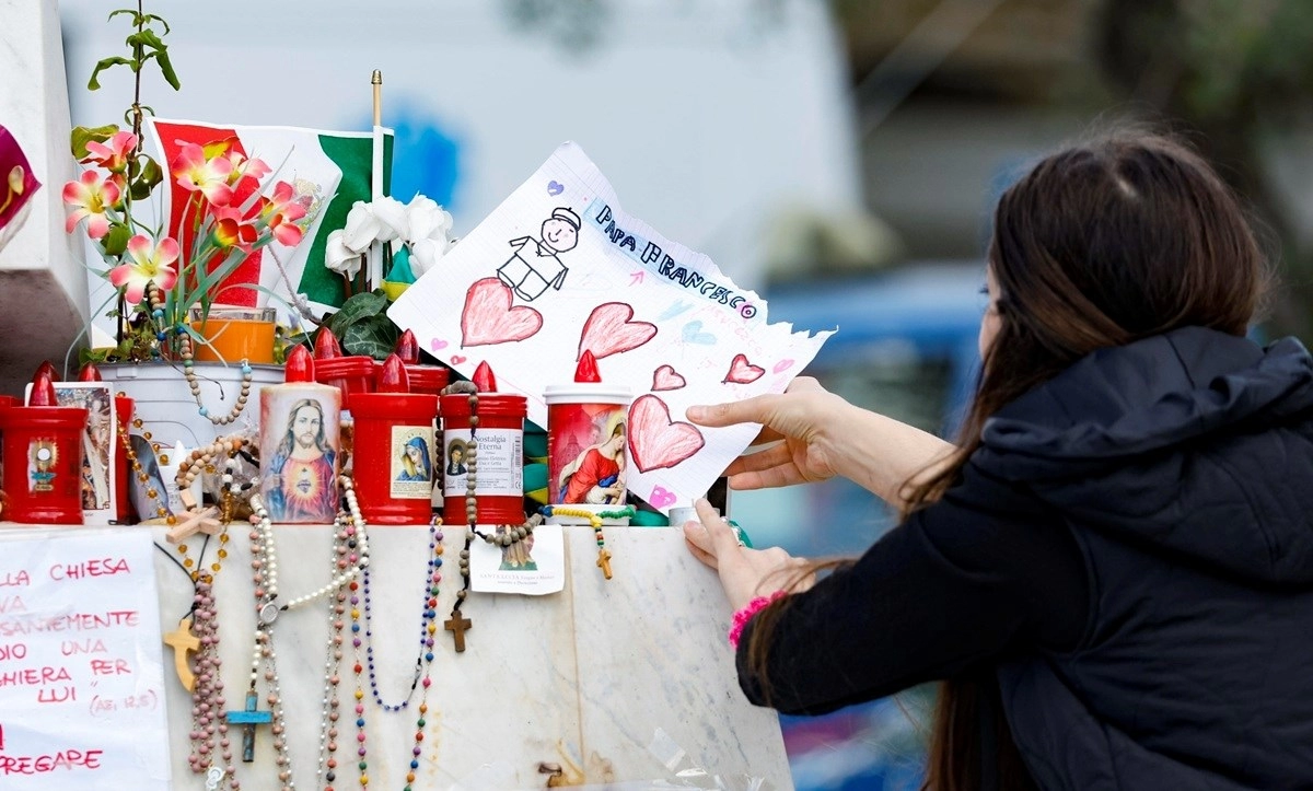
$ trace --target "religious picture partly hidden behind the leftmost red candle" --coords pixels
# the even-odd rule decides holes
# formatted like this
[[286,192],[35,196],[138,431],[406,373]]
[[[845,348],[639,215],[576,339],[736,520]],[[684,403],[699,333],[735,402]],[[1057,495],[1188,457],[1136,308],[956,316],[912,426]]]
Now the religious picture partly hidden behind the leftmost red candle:
[[[24,401],[32,398],[32,385]],[[84,524],[109,524],[117,514],[114,486],[116,459],[123,451],[118,447],[118,424],[114,417],[114,395],[108,382],[55,382],[55,401],[59,406],[80,406],[87,410],[81,449],[81,503]]]

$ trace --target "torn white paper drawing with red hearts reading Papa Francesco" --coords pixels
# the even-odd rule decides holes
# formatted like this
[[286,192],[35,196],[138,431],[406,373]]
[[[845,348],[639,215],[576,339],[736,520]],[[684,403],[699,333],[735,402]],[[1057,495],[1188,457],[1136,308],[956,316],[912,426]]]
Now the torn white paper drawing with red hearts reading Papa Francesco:
[[709,258],[625,214],[572,143],[389,315],[466,376],[486,360],[540,426],[544,388],[592,351],[604,381],[633,389],[626,481],[662,511],[705,493],[758,431],[700,428],[684,410],[783,392],[831,335],[768,323],[765,302]]

